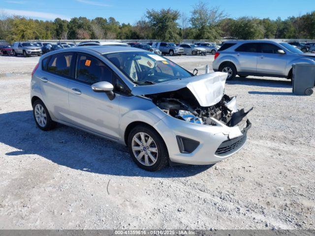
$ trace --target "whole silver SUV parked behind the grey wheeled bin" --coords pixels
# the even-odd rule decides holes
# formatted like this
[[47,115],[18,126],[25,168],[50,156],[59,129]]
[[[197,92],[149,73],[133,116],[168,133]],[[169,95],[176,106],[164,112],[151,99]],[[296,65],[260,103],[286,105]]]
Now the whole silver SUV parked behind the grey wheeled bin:
[[212,66],[214,71],[228,73],[227,80],[236,75],[291,79],[294,63],[315,64],[315,54],[303,54],[284,42],[245,40],[224,43],[215,54]]

